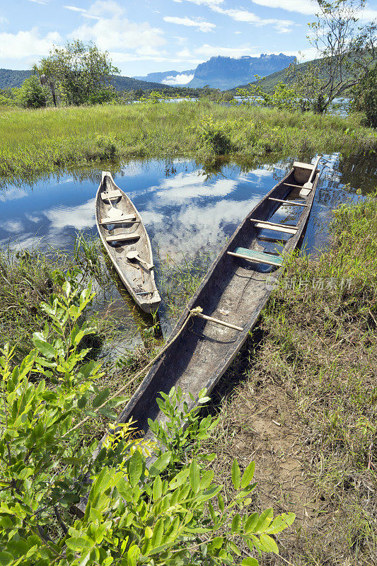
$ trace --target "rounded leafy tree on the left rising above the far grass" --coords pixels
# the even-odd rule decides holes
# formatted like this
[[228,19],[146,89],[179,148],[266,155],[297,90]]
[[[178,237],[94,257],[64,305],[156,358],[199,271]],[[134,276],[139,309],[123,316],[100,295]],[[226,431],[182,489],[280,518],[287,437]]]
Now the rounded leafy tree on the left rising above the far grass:
[[100,104],[113,96],[110,85],[113,74],[120,71],[112,65],[108,52],[100,52],[93,42],[74,40],[65,47],[55,45],[40,62],[52,96],[55,91],[68,105]]

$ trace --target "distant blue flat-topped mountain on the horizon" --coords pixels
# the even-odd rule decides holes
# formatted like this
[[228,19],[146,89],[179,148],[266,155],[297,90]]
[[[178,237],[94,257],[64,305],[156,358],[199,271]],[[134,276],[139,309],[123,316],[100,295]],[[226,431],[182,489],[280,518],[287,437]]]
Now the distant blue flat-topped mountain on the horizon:
[[226,91],[239,84],[255,81],[254,75],[268,76],[277,71],[282,71],[293,63],[296,57],[282,53],[261,54],[260,57],[211,57],[209,61],[201,63],[195,69],[194,79],[187,83],[190,87],[203,87],[209,85],[212,88],[220,88]]

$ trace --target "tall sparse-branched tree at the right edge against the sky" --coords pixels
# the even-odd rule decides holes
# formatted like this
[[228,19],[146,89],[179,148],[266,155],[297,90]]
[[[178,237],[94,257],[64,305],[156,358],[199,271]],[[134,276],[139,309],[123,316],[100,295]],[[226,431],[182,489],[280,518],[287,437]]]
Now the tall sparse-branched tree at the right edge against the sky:
[[376,21],[361,24],[366,0],[317,0],[309,36],[318,52],[311,76],[298,71],[295,83],[312,87],[313,110],[326,112],[332,100],[368,76],[377,59]]

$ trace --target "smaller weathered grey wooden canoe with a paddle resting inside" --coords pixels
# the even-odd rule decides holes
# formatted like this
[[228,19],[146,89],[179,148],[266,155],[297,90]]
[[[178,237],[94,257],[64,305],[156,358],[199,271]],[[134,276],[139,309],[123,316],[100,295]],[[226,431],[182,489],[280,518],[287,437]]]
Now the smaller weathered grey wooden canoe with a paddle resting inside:
[[136,207],[108,171],[103,171],[95,197],[95,223],[124,287],[144,312],[156,311],[161,296],[154,281],[148,233]]

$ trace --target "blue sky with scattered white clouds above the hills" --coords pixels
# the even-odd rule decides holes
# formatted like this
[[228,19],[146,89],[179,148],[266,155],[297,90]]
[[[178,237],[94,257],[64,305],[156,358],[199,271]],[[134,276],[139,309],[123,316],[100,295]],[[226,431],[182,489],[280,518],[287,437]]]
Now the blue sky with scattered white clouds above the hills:
[[[185,71],[214,55],[298,54],[312,0],[0,0],[0,67],[28,69],[53,44],[80,38],[108,50],[127,76]],[[377,16],[377,0],[365,16]]]

